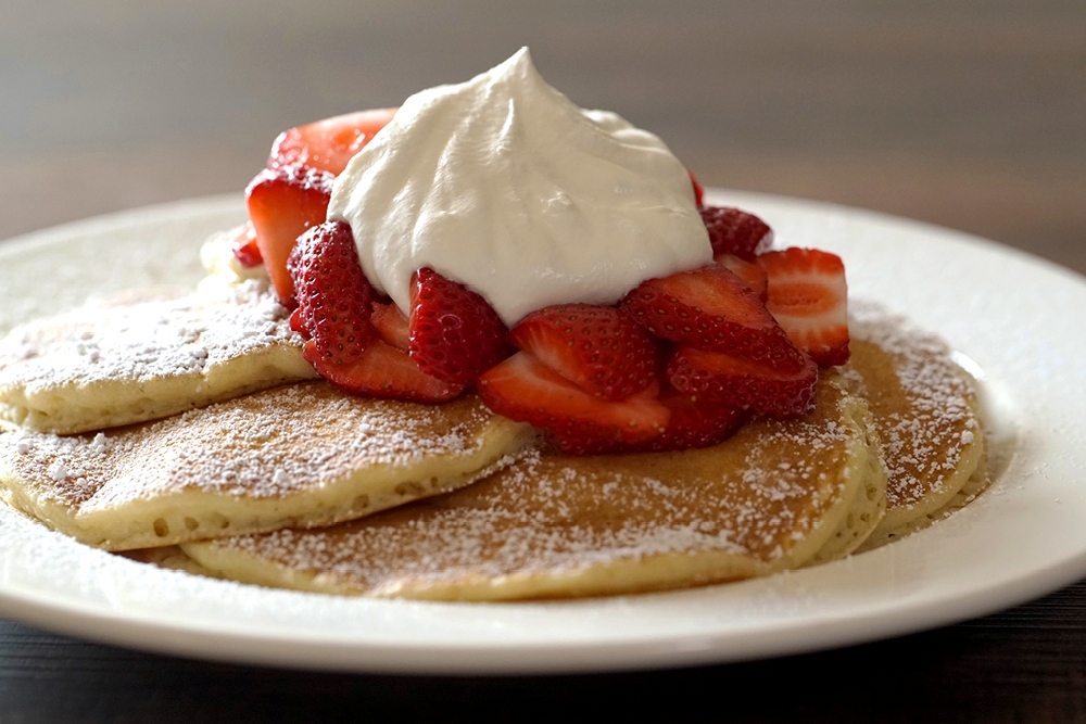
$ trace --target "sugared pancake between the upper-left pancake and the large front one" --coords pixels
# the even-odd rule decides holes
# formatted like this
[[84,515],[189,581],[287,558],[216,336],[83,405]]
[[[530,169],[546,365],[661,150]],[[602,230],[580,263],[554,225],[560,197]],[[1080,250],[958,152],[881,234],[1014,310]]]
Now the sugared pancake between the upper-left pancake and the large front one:
[[105,433],[0,433],[0,496],[110,550],[327,525],[471,482],[534,440],[475,395],[421,405],[326,382]]

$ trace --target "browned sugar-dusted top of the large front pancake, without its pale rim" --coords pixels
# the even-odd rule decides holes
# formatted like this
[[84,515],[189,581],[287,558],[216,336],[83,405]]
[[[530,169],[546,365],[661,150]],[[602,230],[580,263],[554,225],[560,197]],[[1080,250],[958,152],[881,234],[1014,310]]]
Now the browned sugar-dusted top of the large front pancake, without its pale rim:
[[861,434],[842,418],[847,401],[823,384],[819,411],[753,422],[714,448],[536,452],[466,488],[354,523],[214,545],[386,592],[658,554],[716,550],[772,564],[841,499],[849,445]]

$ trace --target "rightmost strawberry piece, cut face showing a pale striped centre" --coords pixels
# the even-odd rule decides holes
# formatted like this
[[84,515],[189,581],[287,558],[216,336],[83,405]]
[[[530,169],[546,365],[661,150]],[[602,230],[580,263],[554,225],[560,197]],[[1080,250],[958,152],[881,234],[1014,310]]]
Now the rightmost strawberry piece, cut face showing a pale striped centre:
[[766,308],[800,350],[822,366],[848,361],[848,285],[841,257],[786,249],[758,257],[769,277]]

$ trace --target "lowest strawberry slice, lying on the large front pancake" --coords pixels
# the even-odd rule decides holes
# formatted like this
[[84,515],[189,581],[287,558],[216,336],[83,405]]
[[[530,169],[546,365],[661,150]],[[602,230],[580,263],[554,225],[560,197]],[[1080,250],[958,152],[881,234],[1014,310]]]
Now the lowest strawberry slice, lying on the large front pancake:
[[656,437],[670,410],[659,388],[622,402],[607,402],[518,352],[479,378],[479,394],[498,415],[545,429],[553,444],[570,455],[630,449]]

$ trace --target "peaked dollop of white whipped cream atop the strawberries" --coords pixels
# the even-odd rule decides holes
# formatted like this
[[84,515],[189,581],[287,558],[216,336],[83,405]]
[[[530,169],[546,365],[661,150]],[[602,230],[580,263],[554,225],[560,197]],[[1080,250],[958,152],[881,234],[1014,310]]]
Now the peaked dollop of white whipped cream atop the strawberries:
[[712,259],[686,168],[664,142],[552,88],[523,48],[408,98],[336,179],[366,277],[403,309],[430,267],[509,327],[552,304],[614,304]]

